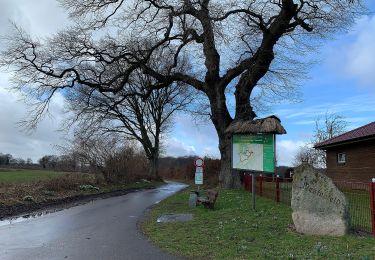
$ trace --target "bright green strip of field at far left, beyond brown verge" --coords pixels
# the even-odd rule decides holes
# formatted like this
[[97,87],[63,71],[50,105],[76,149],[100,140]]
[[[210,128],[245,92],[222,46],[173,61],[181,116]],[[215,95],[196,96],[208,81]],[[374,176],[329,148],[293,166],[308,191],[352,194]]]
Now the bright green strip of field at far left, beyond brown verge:
[[47,170],[0,169],[0,183],[27,183],[61,176],[62,172]]

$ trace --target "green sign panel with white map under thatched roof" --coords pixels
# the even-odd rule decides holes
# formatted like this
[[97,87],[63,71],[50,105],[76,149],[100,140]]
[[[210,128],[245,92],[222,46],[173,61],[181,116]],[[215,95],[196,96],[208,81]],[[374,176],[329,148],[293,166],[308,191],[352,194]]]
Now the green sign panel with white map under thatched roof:
[[273,134],[235,134],[232,143],[232,167],[240,170],[274,172]]

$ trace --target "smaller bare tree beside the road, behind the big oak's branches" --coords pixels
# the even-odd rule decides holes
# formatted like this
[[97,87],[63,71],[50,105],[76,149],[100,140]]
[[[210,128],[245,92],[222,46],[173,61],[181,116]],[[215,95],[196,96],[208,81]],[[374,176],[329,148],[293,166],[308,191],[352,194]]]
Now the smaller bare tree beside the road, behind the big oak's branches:
[[[137,73],[128,84],[142,93],[146,91],[144,86],[152,85],[152,81],[150,76]],[[127,96],[122,91],[101,93],[83,85],[77,89],[66,95],[69,110],[74,112],[71,123],[85,133],[116,133],[125,141],[138,141],[149,160],[151,176],[159,179],[162,138],[171,127],[173,114],[192,102],[191,91],[173,83],[153,90],[143,99],[140,95]]]

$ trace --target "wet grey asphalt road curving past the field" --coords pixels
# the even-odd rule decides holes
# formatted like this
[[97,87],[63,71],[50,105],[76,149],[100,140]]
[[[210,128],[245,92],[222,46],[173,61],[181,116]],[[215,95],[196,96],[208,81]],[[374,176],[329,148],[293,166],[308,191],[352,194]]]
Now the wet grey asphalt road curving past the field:
[[0,259],[176,259],[154,247],[137,222],[148,207],[184,187],[169,183],[32,219],[0,221]]

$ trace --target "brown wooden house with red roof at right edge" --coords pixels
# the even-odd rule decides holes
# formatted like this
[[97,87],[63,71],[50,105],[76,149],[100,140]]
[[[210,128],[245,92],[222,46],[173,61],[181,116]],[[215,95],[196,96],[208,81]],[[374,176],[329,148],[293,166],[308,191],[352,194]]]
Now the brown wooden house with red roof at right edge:
[[326,173],[333,180],[371,182],[375,178],[375,122],[317,143],[314,148],[326,151]]

